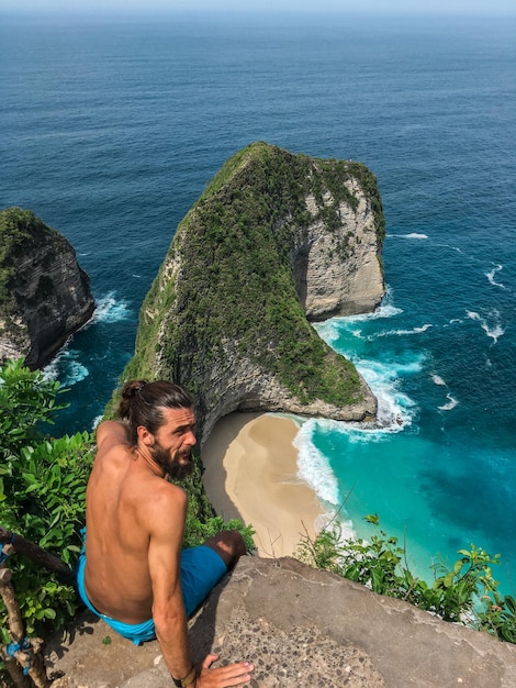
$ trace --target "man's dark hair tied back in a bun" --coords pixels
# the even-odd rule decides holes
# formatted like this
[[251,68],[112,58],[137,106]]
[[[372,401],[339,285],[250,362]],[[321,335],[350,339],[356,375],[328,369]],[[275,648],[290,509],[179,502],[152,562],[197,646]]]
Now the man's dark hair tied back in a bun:
[[166,380],[130,380],[122,388],[122,400],[116,414],[121,420],[127,421],[131,444],[136,446],[139,425],[155,435],[164,424],[162,409],[192,408],[192,398],[179,385]]

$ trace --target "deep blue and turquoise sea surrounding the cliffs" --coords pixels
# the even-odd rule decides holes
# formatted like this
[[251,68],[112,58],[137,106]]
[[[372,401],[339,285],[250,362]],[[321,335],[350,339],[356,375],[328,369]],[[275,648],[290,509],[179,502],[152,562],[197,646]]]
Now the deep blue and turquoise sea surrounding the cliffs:
[[347,530],[378,513],[419,575],[471,542],[516,588],[516,20],[0,16],[0,207],[77,249],[93,321],[47,368],[90,429],[175,229],[253,141],[377,175],[389,287],[317,325],[381,428],[311,420],[300,470]]

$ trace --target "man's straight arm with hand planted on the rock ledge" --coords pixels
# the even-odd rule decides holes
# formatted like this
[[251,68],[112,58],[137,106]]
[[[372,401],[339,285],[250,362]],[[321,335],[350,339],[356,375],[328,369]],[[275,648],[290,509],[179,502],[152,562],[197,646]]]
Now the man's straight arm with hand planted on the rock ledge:
[[[175,679],[186,678],[192,667],[188,623],[181,591],[181,546],[187,496],[178,487],[165,489],[153,500],[148,564],[153,582],[153,619],[164,659]],[[211,669],[218,657],[209,655],[191,688],[228,688],[250,680],[247,662]]]

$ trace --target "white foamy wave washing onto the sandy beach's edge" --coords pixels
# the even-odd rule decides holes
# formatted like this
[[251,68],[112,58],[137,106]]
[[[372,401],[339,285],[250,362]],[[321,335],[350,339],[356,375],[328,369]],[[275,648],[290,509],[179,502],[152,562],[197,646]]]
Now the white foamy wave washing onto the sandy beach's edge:
[[312,444],[315,423],[315,419],[303,423],[294,439],[293,445],[298,450],[298,473],[322,501],[338,507],[341,496],[329,460]]

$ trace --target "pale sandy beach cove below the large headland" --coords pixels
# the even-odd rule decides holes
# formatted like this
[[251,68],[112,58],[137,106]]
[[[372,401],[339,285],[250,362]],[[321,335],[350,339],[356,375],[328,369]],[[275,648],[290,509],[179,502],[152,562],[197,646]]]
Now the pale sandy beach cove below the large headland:
[[291,555],[303,534],[314,536],[323,514],[315,492],[296,475],[296,433],[288,418],[232,413],[202,448],[212,504],[224,519],[253,525],[260,556]]

